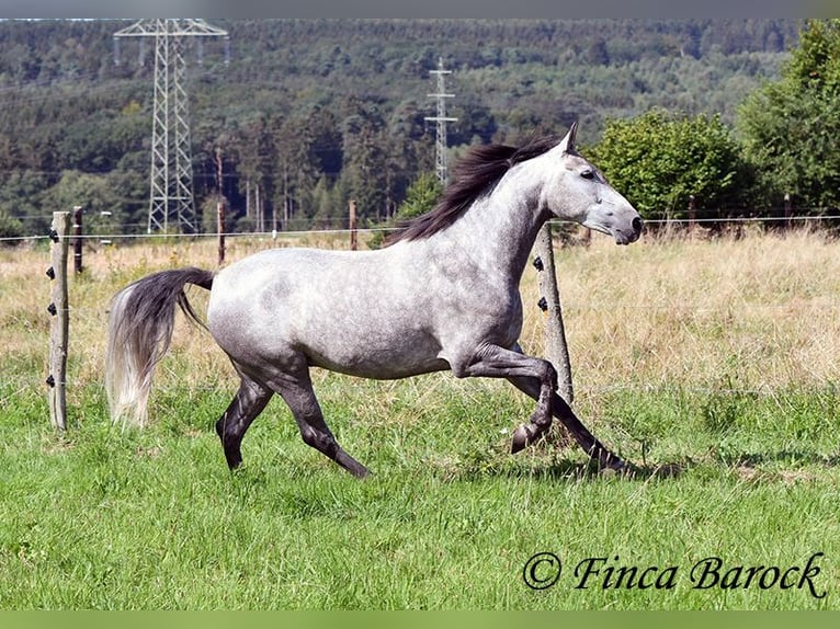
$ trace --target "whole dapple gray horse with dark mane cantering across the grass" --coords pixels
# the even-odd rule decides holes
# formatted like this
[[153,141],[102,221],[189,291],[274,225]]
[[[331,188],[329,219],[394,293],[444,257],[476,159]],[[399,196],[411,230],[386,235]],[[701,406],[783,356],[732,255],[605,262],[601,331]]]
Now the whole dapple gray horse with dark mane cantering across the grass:
[[[456,378],[507,378],[536,401],[512,434],[511,453],[560,420],[602,468],[626,470],[556,392],[557,374],[519,343],[519,284],[540,228],[576,221],[636,241],[631,203],[564,135],[523,146],[474,147],[428,214],[401,225],[376,250],[270,249],[219,271],[161,271],[120,290],[109,313],[105,380],[114,422],[143,426],[156,365],[167,353],[177,306],[229,357],[239,389],[215,424],[228,467],[242,461],[246,431],[276,393],[300,436],[355,477],[368,471],[339,445],[313,390],[310,368],[397,379],[450,370]],[[209,290],[206,324],[188,284]]]

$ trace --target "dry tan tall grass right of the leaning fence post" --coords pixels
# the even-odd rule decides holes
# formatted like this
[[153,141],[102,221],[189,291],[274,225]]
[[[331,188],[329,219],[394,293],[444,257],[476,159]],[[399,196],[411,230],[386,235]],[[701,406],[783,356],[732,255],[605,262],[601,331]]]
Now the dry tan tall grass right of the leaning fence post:
[[756,232],[558,259],[581,385],[777,389],[840,376],[840,243]]

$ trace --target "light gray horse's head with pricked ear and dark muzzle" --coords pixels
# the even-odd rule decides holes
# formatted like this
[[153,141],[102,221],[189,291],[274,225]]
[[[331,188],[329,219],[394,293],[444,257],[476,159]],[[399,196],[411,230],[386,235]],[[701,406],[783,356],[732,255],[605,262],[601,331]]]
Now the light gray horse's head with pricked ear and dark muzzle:
[[543,188],[542,206],[557,218],[608,233],[617,244],[629,244],[642,235],[642,217],[616,192],[594,164],[575,150],[577,123],[546,157],[550,184]]

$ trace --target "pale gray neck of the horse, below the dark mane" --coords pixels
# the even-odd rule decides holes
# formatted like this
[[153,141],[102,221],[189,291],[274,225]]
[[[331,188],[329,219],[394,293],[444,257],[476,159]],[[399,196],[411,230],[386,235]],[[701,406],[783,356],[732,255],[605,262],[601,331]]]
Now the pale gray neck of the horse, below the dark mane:
[[541,186],[524,169],[510,171],[491,194],[433,238],[446,249],[464,252],[485,270],[496,268],[519,282],[547,218],[538,211],[540,192]]

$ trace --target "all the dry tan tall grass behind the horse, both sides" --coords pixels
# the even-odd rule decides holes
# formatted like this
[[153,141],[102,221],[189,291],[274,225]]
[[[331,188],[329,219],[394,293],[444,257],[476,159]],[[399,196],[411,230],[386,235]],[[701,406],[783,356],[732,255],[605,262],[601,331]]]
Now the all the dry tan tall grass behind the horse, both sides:
[[[310,236],[281,245],[344,247],[344,238]],[[228,239],[227,260],[277,245],[272,240]],[[106,309],[128,282],[179,265],[214,267],[216,242],[148,241],[104,248],[90,244],[86,272],[70,285],[70,362],[73,384],[102,380]],[[41,386],[48,352],[49,254],[44,245],[0,249],[0,334],[4,378]],[[743,239],[643,238],[615,247],[595,237],[591,247],[557,252],[557,275],[580,392],[614,387],[686,387],[768,390],[821,387],[840,380],[840,242],[816,232],[761,232]],[[523,345],[542,351],[536,272],[523,279]],[[192,294],[203,304],[204,291]],[[189,386],[224,386],[234,377],[206,332],[182,320],[175,356],[161,369]],[[179,363],[189,364],[180,369]]]

